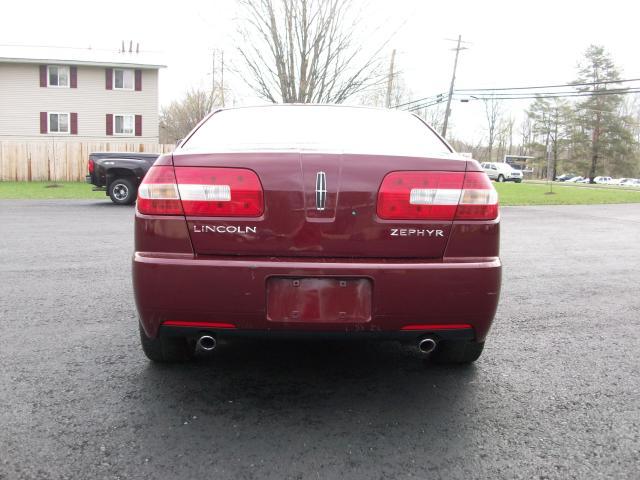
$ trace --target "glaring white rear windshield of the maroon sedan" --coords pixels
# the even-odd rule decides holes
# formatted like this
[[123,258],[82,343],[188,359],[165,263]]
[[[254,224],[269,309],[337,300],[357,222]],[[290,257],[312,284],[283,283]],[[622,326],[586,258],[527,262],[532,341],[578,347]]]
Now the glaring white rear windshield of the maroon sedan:
[[193,153],[291,149],[406,156],[451,153],[411,114],[335,106],[223,110],[181,146],[183,152]]

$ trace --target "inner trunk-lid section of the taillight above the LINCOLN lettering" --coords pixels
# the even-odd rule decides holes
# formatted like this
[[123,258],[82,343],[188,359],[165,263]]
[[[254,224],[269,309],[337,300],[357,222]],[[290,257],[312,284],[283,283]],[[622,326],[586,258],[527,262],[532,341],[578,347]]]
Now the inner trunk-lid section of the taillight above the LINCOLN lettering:
[[245,168],[176,167],[185,215],[259,217],[264,211],[262,185]]

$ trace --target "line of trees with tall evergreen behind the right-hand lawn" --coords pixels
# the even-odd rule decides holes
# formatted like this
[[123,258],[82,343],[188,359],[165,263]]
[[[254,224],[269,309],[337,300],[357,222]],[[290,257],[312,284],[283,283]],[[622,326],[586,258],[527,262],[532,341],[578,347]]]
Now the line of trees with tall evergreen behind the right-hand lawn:
[[[579,62],[577,93],[570,98],[535,98],[519,125],[499,100],[484,100],[487,135],[477,145],[453,140],[479,160],[528,155],[539,178],[574,173],[640,176],[640,97],[620,83],[611,55],[591,45]],[[631,90],[631,91],[630,91]],[[547,171],[547,165],[551,171]],[[549,175],[550,174],[550,175]]]

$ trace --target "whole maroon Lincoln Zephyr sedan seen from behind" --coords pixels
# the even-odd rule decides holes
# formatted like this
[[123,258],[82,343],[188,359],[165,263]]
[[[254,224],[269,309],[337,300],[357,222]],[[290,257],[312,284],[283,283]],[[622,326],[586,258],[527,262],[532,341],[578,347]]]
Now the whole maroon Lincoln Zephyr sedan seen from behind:
[[240,335],[361,337],[473,362],[500,294],[499,221],[480,165],[406,112],[214,112],[140,185],[142,348],[172,362]]

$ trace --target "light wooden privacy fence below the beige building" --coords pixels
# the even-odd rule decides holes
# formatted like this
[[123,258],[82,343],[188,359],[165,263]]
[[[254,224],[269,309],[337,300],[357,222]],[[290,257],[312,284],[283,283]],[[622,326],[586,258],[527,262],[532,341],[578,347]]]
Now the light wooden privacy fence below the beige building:
[[0,181],[81,181],[92,152],[165,153],[175,145],[0,141]]

